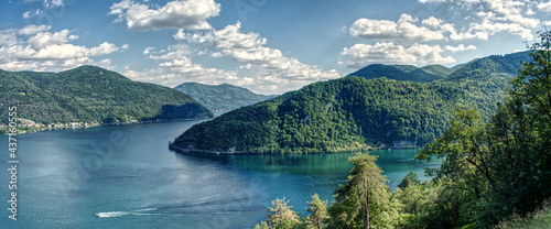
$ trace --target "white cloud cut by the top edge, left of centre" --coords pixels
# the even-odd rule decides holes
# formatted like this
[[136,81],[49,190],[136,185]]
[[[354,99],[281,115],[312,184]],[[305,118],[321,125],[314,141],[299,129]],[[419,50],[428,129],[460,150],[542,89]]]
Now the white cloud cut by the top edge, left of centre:
[[184,0],[150,9],[147,4],[123,0],[114,3],[110,10],[109,14],[118,15],[117,22],[126,21],[129,30],[205,30],[212,28],[206,20],[218,15],[220,4],[214,0]]

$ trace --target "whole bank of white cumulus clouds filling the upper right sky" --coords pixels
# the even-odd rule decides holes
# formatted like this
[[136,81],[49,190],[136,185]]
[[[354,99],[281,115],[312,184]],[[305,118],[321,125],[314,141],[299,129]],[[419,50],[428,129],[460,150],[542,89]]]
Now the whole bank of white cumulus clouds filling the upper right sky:
[[[453,63],[452,56],[444,52],[464,52],[476,50],[469,44],[428,45],[426,42],[447,43],[464,40],[487,41],[497,33],[508,33],[522,40],[532,40],[533,29],[541,25],[531,15],[532,9],[549,9],[551,2],[529,0],[418,0],[421,3],[444,3],[455,9],[455,14],[464,15],[458,24],[446,23],[445,20],[430,15],[417,19],[402,14],[397,21],[359,19],[349,26],[353,36],[366,40],[367,44],[355,44],[341,53],[339,63],[352,68],[368,64],[446,64]],[[474,13],[473,13],[474,12]]]

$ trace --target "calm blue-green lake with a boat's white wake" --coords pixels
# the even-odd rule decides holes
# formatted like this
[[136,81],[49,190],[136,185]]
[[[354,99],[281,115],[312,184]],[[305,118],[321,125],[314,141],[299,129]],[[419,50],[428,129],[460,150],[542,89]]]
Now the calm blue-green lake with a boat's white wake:
[[[8,137],[0,137],[0,228],[252,228],[270,200],[306,215],[311,196],[333,200],[354,153],[183,155],[169,141],[201,121],[99,127],[18,135],[18,220],[8,218]],[[392,189],[417,150],[372,151]]]

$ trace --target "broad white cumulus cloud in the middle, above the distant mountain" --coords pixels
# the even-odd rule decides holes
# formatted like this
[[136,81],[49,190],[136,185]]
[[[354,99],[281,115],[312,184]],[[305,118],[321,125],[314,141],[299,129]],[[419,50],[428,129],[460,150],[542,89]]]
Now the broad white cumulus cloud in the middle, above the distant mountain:
[[[204,84],[229,83],[247,86],[256,92],[280,94],[341,76],[335,69],[323,70],[288,57],[278,48],[268,47],[266,37],[253,32],[241,32],[239,22],[220,30],[186,32],[182,29],[174,34],[174,39],[181,42],[180,45],[159,52],[153,48],[143,51],[148,58],[159,62],[160,69],[164,69],[158,74],[168,86],[191,80]],[[198,46],[201,51],[185,44]],[[233,70],[209,68],[193,63],[190,57],[205,54],[215,58],[228,57],[238,66]]]

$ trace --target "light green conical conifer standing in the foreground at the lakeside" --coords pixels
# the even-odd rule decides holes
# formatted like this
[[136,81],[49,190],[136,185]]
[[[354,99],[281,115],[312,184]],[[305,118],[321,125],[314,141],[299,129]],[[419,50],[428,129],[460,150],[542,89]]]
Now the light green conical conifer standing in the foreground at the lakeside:
[[376,156],[358,153],[349,161],[354,167],[348,182],[335,192],[332,204],[332,228],[387,228],[391,225],[389,208],[390,190],[382,171],[375,164]]

